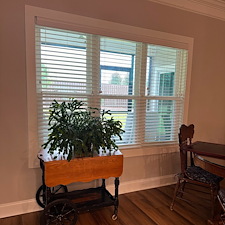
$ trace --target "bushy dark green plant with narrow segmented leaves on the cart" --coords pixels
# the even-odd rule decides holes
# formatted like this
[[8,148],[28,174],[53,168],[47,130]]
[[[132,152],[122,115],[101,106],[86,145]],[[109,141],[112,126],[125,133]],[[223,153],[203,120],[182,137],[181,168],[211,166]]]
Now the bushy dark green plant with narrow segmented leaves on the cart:
[[93,156],[94,152],[117,150],[116,137],[122,140],[122,123],[110,116],[110,111],[86,107],[76,99],[59,103],[54,100],[50,106],[49,137],[42,146],[53,154],[55,150],[74,157]]

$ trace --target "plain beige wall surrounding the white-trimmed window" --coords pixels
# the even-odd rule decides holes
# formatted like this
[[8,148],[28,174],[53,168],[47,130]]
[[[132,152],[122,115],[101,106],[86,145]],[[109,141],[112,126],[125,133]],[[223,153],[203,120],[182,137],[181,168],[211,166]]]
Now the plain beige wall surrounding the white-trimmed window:
[[[0,204],[34,198],[28,169],[25,4],[194,38],[189,123],[196,139],[225,143],[225,22],[142,0],[1,0]],[[175,173],[178,155],[126,158],[123,181]]]

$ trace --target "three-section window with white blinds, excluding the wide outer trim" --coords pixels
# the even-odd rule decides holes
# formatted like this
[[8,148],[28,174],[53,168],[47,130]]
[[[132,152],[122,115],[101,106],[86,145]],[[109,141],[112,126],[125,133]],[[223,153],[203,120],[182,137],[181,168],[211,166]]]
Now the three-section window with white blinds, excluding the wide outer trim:
[[175,142],[186,66],[187,50],[37,25],[40,144],[50,103],[69,98],[110,110],[126,131],[119,145]]

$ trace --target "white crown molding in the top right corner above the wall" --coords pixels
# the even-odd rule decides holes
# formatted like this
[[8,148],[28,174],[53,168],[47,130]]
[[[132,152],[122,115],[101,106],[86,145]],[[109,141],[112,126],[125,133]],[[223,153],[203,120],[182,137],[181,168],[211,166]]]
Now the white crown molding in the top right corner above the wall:
[[225,21],[225,0],[148,0]]

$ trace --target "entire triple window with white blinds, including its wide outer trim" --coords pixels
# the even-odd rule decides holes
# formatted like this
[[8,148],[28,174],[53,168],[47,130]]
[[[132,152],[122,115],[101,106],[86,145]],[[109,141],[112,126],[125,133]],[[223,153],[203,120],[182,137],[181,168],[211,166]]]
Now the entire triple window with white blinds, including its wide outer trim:
[[192,38],[33,6],[25,23],[29,167],[39,165],[50,103],[71,97],[123,122],[125,157],[176,151]]

